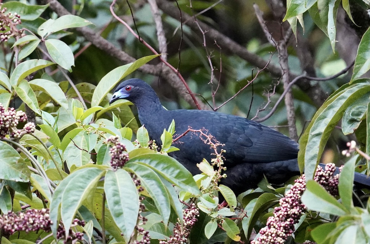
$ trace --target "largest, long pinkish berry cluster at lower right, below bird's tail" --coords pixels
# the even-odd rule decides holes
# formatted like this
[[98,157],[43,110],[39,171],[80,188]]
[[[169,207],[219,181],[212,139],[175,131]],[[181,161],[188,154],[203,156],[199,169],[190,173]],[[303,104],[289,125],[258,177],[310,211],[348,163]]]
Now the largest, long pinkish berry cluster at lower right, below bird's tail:
[[[329,193],[336,196],[338,194],[338,178],[339,174],[333,176],[335,165],[328,163],[325,169],[318,166],[314,176],[314,180],[323,186]],[[262,228],[257,240],[251,241],[251,244],[277,244],[285,243],[287,237],[293,234],[294,224],[298,223],[306,206],[301,202],[301,196],[306,190],[306,177],[303,174],[295,184],[290,187],[290,190],[285,193],[285,196],[280,199],[279,207],[275,207],[274,216],[268,218],[266,227]],[[313,244],[307,242],[306,244]]]

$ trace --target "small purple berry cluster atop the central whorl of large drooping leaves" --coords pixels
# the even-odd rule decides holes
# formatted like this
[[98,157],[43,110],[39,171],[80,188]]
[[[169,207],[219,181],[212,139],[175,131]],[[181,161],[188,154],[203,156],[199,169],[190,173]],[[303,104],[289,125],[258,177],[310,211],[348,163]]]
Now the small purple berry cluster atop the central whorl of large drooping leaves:
[[111,136],[107,139],[108,145],[111,145],[109,154],[111,155],[111,166],[113,169],[118,169],[125,166],[128,161],[128,153],[126,146],[120,142],[118,136]]

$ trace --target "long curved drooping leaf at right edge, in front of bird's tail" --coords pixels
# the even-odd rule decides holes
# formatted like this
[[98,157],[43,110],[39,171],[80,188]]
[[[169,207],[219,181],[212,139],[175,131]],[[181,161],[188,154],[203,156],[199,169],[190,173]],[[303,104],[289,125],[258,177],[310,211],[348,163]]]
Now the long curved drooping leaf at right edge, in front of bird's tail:
[[300,140],[298,162],[300,169],[305,168],[306,178],[313,178],[317,163],[320,160],[324,146],[330,133],[342,118],[344,110],[364,94],[370,92],[369,82],[344,85],[338,92],[330,96],[317,110],[312,122],[307,127]]

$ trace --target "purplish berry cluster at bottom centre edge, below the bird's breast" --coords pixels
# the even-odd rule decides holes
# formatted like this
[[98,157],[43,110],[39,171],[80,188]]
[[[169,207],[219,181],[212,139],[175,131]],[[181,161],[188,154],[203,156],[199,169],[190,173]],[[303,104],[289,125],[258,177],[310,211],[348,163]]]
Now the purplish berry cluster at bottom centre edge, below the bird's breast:
[[194,226],[195,222],[198,221],[199,210],[196,208],[195,203],[193,203],[187,209],[182,210],[184,213],[184,222],[181,225],[176,223],[174,227],[174,234],[169,237],[169,240],[161,240],[159,244],[186,244],[188,243],[188,236],[190,234],[191,228]]

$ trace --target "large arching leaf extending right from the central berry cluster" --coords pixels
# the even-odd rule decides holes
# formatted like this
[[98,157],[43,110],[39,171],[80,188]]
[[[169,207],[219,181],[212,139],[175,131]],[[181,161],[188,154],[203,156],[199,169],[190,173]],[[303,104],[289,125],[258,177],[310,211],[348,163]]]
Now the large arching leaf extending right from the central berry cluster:
[[172,184],[194,195],[200,194],[192,174],[173,157],[155,153],[133,157],[128,160],[127,163],[130,162],[142,163],[153,169],[157,174],[160,174]]

